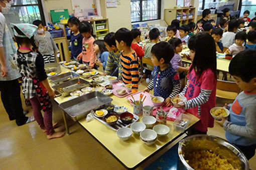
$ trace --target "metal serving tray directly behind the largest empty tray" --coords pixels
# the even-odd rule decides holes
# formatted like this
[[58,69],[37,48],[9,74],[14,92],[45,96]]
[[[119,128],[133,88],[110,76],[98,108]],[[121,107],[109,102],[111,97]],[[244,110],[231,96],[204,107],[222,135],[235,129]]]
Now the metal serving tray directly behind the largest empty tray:
[[75,78],[69,81],[54,85],[52,88],[61,93],[62,96],[68,96],[70,92],[75,90],[80,90],[81,88],[87,86],[88,81],[82,78]]

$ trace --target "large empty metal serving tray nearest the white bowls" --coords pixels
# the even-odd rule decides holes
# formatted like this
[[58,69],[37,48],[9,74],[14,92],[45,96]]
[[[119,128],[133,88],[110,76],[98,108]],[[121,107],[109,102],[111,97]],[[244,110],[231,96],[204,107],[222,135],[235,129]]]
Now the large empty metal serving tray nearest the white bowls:
[[94,91],[59,104],[74,121],[85,117],[91,110],[100,109],[110,104],[113,99]]

